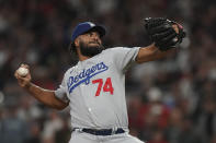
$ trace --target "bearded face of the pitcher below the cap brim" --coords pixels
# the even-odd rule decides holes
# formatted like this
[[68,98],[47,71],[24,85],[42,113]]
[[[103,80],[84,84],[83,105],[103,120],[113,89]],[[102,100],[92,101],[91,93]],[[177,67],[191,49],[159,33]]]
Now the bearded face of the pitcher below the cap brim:
[[93,57],[104,50],[98,32],[89,32],[79,36],[79,47],[83,56]]

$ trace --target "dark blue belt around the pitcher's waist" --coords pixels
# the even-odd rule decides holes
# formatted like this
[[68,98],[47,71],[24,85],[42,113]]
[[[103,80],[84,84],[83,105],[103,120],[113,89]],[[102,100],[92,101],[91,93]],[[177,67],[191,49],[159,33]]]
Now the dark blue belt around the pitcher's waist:
[[[75,128],[75,130],[77,130],[78,128]],[[125,131],[122,129],[122,128],[117,128],[116,130],[113,130],[113,129],[101,129],[101,130],[96,130],[96,129],[78,129],[82,132],[86,132],[86,133],[90,133],[90,134],[93,134],[93,135],[112,135],[112,134],[120,134],[120,133],[124,133]]]

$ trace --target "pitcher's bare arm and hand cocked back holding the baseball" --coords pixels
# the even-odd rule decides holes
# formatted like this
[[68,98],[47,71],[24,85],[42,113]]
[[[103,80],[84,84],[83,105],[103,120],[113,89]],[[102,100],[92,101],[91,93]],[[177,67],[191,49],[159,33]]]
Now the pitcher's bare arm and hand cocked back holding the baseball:
[[[22,64],[21,67],[29,69],[26,64]],[[21,87],[23,87],[25,91],[27,91],[27,93],[30,93],[37,100],[45,104],[46,106],[49,106],[58,110],[61,110],[68,106],[68,103],[65,103],[64,100],[55,96],[54,91],[45,90],[33,84],[31,82],[32,78],[30,72],[27,73],[26,76],[21,76],[19,75],[18,71],[15,71],[14,76],[18,79],[18,83]]]

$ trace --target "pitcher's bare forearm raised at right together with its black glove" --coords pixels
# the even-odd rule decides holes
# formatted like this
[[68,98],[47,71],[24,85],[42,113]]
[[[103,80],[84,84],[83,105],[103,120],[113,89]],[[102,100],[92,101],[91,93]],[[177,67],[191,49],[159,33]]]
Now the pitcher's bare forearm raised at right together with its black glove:
[[183,27],[167,19],[147,19],[146,29],[155,43],[139,49],[136,57],[138,63],[158,60],[173,53],[177,51],[177,44],[185,37]]

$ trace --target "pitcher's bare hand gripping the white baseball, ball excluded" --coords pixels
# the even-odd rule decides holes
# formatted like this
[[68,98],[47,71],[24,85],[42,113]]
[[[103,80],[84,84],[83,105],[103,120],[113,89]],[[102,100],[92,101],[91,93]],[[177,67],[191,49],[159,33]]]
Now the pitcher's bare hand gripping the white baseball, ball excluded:
[[27,74],[25,76],[21,76],[18,72],[18,70],[14,73],[14,76],[18,79],[18,83],[21,87],[29,87],[31,84],[31,73],[30,73],[30,67],[27,64],[21,64],[21,67],[26,68],[29,70]]

